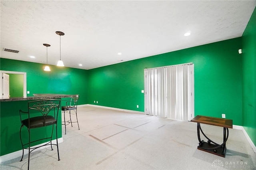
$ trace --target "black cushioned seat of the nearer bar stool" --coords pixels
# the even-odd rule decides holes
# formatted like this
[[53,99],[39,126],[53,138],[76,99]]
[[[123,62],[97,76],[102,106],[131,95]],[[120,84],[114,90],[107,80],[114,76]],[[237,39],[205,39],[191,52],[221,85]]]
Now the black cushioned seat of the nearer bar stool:
[[[22,124],[29,127],[28,119],[23,120]],[[38,116],[30,118],[30,128],[45,127],[54,124],[56,124],[56,119],[53,116]]]

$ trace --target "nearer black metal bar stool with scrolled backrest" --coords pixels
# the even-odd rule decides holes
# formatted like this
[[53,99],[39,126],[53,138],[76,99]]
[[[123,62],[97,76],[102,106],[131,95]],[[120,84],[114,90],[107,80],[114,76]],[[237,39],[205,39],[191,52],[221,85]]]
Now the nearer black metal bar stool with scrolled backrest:
[[[42,146],[46,145],[56,145],[57,152],[58,152],[58,160],[60,160],[59,155],[59,147],[58,147],[58,130],[57,130],[57,123],[58,123],[58,112],[60,109],[60,100],[58,99],[45,99],[45,100],[36,100],[28,102],[28,111],[24,112],[20,110],[20,141],[22,144],[22,161],[24,156],[24,149],[28,149],[28,169],[29,169],[29,161],[30,161],[30,153]],[[42,130],[46,130],[46,126],[52,125],[51,135],[46,135],[46,138],[38,138],[40,135],[32,136],[33,140],[31,141],[30,131],[35,128],[42,128]],[[54,130],[54,125],[56,128],[56,144],[52,144],[52,134]],[[21,130],[23,127],[28,129],[28,143],[24,144],[22,142],[22,133]],[[33,131],[33,130],[32,130]],[[47,132],[43,132],[42,134],[47,134]],[[42,144],[40,146],[31,146],[34,142],[41,141],[41,140],[49,140],[46,144]],[[24,140],[24,139],[23,139]],[[43,142],[43,141],[42,141]],[[35,145],[36,143],[34,143]],[[52,148],[53,150],[53,148]]]

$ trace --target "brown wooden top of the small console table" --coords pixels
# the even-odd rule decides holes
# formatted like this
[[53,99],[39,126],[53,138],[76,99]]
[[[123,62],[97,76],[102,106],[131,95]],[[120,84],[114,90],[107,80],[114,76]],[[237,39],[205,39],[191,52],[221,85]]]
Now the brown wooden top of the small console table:
[[231,119],[222,119],[222,118],[216,118],[216,117],[197,115],[196,117],[191,119],[191,122],[214,125],[218,127],[233,128],[233,120]]

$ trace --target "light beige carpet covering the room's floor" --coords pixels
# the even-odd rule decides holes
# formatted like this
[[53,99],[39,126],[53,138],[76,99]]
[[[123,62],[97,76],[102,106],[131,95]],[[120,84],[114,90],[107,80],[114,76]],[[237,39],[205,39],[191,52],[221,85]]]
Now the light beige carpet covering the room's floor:
[[[256,154],[242,130],[229,129],[223,158],[197,149],[196,123],[90,106],[78,107],[78,121],[80,130],[73,123],[64,134],[62,126],[60,161],[56,146],[35,150],[30,170],[256,169]],[[223,128],[201,126],[210,139],[222,143]],[[0,169],[27,169],[28,155],[22,162],[20,158],[2,162]]]

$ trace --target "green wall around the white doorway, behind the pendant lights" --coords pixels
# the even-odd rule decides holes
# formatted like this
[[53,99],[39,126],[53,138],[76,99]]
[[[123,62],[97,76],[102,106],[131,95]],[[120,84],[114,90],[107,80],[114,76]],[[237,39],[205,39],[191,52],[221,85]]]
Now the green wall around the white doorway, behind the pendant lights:
[[[36,93],[80,94],[79,105],[88,103],[88,70],[49,65],[51,71],[44,71],[44,64],[0,58],[0,69],[26,72],[27,91]],[[10,85],[12,86],[12,85]]]

